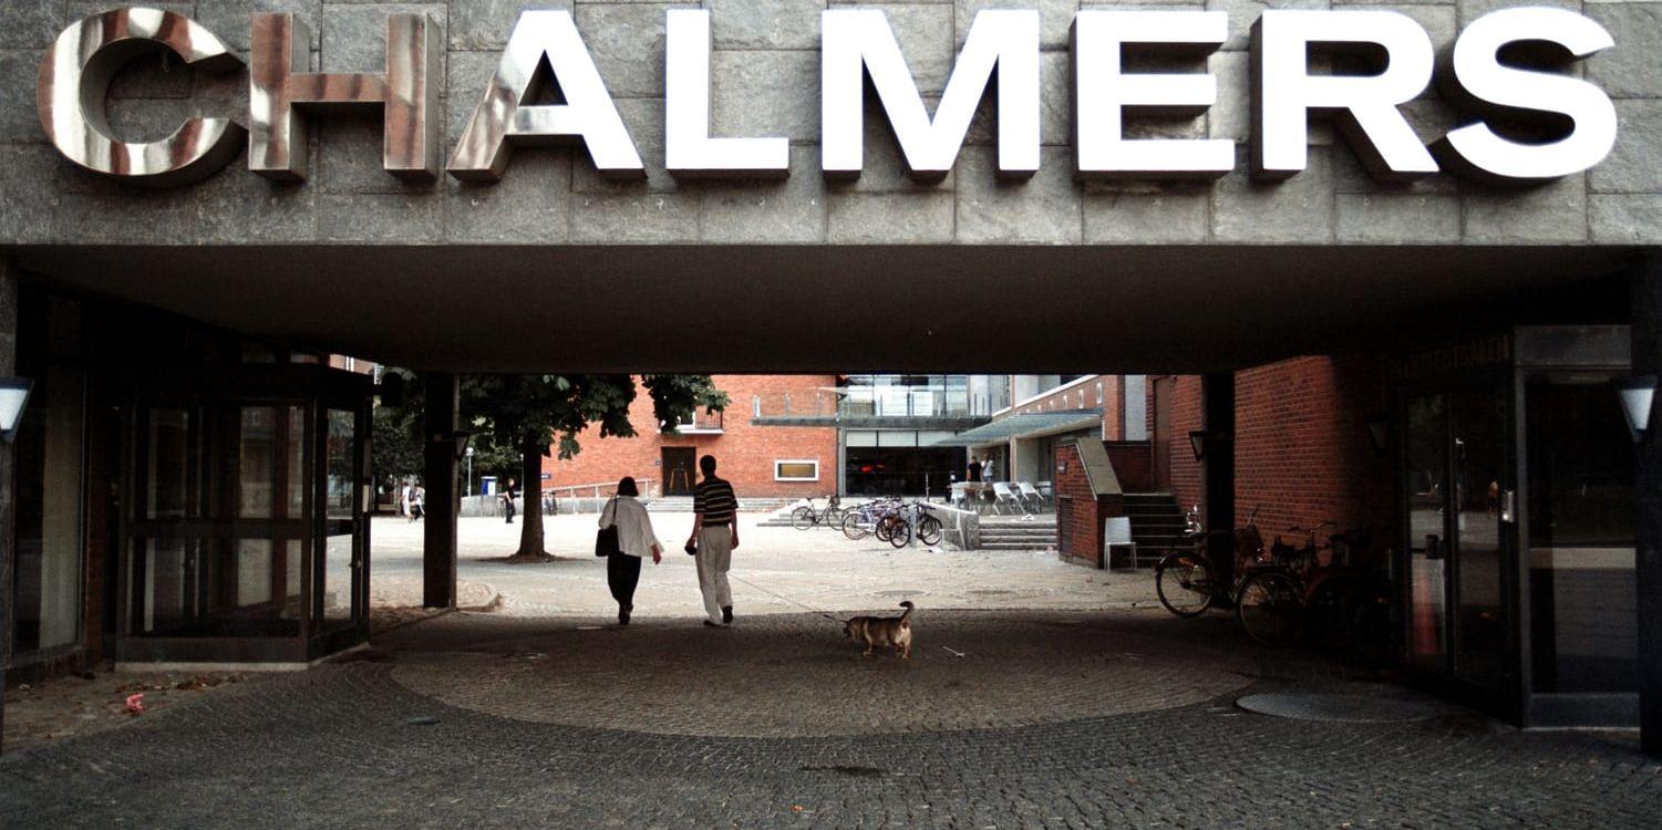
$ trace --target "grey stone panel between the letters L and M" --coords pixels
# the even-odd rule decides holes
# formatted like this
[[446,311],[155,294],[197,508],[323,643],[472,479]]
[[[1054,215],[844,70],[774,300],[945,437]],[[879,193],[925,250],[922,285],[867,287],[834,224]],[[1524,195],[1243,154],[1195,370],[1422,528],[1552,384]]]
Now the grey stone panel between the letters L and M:
[[819,141],[818,51],[716,51],[710,86],[711,134]]

